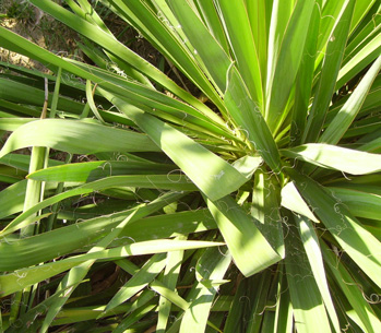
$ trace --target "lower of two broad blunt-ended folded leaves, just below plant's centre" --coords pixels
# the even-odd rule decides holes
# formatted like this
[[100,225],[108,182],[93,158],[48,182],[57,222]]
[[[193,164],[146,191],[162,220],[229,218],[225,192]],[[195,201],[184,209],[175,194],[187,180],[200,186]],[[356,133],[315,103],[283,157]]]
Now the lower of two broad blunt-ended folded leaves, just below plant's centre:
[[207,200],[207,207],[243,275],[253,275],[282,259],[257,228],[253,218],[233,198]]

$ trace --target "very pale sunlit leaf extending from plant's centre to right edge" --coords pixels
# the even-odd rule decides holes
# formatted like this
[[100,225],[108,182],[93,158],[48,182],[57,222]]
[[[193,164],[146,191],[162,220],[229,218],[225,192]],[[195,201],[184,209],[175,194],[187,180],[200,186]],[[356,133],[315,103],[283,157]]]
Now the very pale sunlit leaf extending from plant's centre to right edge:
[[282,150],[282,154],[352,175],[366,175],[381,170],[381,155],[323,143],[308,143]]

